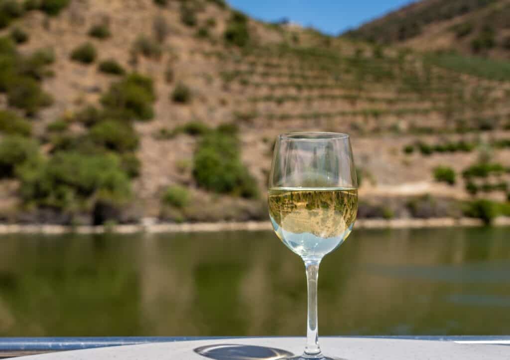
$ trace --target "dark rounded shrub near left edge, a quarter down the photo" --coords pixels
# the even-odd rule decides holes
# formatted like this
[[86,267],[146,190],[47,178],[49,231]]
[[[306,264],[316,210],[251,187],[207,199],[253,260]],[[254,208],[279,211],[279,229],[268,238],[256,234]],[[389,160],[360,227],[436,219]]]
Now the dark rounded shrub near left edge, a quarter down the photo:
[[53,103],[53,98],[42,91],[39,83],[27,77],[18,77],[10,82],[7,100],[10,106],[23,109],[29,115]]

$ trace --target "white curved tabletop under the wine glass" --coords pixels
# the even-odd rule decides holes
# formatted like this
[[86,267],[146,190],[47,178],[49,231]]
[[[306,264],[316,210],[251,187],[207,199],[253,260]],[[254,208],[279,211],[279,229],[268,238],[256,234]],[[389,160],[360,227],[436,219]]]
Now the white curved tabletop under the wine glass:
[[[246,345],[237,347],[233,355],[219,345]],[[270,349],[282,349],[301,354],[304,338],[244,338],[182,341],[143,345],[115,346],[87,350],[63,351],[42,355],[23,356],[31,360],[217,360],[276,359],[269,357]],[[370,339],[370,338],[321,338],[320,345],[326,355],[347,360],[508,360],[510,346],[503,344],[463,344],[444,341]],[[209,356],[196,353],[195,349],[210,348]],[[264,349],[258,348],[264,347]],[[226,349],[226,348],[225,348]],[[231,347],[232,351],[233,348]],[[18,359],[17,358],[17,359]]]

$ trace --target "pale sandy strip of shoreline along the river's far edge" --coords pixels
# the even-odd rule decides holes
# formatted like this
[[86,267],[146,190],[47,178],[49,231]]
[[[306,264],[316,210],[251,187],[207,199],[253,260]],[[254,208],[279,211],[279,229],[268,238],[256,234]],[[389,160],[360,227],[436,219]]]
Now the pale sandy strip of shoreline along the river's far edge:
[[[356,228],[421,228],[421,227],[474,227],[483,226],[483,222],[473,218],[430,218],[430,219],[359,219]],[[510,217],[498,217],[493,226],[510,226]],[[0,235],[7,234],[136,234],[136,233],[197,233],[220,231],[262,231],[272,230],[269,221],[246,222],[197,222],[197,223],[156,223],[150,219],[140,224],[101,225],[101,226],[64,226],[48,224],[0,224]]]

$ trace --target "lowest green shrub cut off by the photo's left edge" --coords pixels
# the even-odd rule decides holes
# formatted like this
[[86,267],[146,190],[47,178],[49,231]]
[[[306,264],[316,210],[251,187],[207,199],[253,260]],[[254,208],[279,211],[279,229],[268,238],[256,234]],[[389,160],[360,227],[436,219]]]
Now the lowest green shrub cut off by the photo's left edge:
[[34,140],[18,135],[4,137],[0,141],[0,177],[11,177],[15,169],[36,157],[38,146]]

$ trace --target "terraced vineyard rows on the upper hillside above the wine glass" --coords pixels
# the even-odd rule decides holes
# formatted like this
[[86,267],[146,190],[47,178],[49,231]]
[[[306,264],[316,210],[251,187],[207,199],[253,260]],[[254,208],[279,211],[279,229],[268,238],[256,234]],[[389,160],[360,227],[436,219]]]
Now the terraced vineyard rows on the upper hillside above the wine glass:
[[256,48],[234,58],[221,76],[252,121],[312,122],[361,134],[462,132],[487,121],[503,126],[507,85],[448,71],[417,54],[388,53]]

